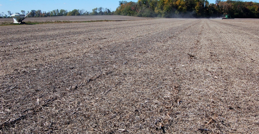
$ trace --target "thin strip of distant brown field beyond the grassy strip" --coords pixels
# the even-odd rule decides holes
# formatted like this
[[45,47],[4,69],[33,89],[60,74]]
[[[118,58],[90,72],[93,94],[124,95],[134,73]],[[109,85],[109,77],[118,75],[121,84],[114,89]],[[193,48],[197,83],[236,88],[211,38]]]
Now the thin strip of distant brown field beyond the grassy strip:
[[[84,22],[95,20],[113,20],[113,21],[125,21],[125,20],[143,20],[151,18],[131,17],[131,16],[119,16],[119,15],[96,15],[96,16],[58,16],[58,17],[28,17],[23,22],[45,22],[45,21],[71,21],[71,22]],[[12,18],[0,18],[0,24],[2,22],[13,23]]]

